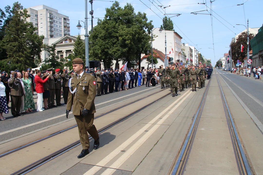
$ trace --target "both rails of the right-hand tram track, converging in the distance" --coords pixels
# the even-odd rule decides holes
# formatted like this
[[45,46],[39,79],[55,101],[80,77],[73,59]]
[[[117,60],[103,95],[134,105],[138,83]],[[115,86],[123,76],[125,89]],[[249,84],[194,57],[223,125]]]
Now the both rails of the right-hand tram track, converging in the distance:
[[[236,157],[236,162],[237,162],[237,168],[239,169],[239,174],[242,175],[255,175],[255,170],[252,166],[252,163],[248,157],[248,153],[244,147],[244,145],[242,144],[241,141],[241,136],[239,135],[238,129],[236,128],[235,122],[232,118],[229,106],[227,104],[224,92],[222,90],[221,84],[219,82],[218,79],[218,75],[216,75],[217,81],[218,81],[218,85],[219,85],[219,89],[220,89],[220,94],[221,94],[221,100],[224,106],[224,112],[227,118],[227,124],[229,127],[229,132],[231,135],[231,141],[232,141],[232,145],[233,145],[233,149],[235,152],[235,157]],[[198,124],[199,124],[199,120],[200,117],[202,115],[202,111],[204,108],[204,104],[205,104],[205,99],[207,97],[208,94],[208,90],[209,90],[209,86],[210,86],[210,82],[208,86],[206,87],[206,90],[203,94],[202,100],[199,104],[199,107],[196,111],[196,114],[193,117],[193,121],[191,123],[191,125],[189,126],[188,132],[186,133],[184,140],[179,148],[179,151],[172,163],[172,166],[168,172],[168,174],[172,174],[172,175],[178,175],[178,174],[184,174],[184,170],[186,168],[186,164],[191,152],[191,148],[193,146],[193,140],[196,134],[196,130],[198,128]]]

